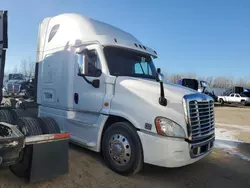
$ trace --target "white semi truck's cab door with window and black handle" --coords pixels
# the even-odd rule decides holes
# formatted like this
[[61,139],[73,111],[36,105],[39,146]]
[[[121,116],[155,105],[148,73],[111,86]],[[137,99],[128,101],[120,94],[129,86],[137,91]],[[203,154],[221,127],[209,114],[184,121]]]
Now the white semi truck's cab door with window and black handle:
[[98,45],[86,46],[84,52],[76,54],[74,79],[74,104],[76,111],[98,113],[103,107],[105,96],[105,75],[99,58]]

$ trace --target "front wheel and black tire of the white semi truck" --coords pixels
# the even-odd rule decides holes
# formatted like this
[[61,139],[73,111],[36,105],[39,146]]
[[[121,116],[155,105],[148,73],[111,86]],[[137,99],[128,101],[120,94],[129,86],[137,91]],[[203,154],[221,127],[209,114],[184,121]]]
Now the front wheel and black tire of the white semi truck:
[[[120,149],[123,155],[116,158],[119,154],[115,152]],[[143,150],[134,127],[128,122],[118,122],[108,127],[103,135],[102,155],[108,167],[121,175],[139,172],[143,166]]]

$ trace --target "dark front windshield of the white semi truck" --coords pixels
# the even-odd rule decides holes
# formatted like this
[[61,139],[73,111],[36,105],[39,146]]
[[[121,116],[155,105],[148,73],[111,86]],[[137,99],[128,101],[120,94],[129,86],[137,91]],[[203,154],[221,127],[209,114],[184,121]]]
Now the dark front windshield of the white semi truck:
[[156,69],[149,55],[116,47],[105,47],[104,54],[113,76],[156,78]]

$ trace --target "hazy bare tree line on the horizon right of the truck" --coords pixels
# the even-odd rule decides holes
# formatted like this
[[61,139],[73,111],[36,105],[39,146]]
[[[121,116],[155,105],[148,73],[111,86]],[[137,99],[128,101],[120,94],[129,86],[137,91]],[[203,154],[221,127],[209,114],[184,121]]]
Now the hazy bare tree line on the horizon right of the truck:
[[215,88],[229,88],[233,86],[241,86],[245,88],[250,88],[250,78],[238,78],[225,76],[197,76],[195,73],[175,73],[175,74],[165,74],[168,81],[177,83],[178,80],[182,78],[193,78],[198,80],[206,81],[210,87]]

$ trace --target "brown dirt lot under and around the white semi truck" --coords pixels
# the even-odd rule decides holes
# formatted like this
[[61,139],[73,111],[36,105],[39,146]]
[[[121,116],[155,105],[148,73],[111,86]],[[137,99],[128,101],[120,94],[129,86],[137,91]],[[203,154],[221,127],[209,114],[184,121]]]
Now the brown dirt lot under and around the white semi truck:
[[250,187],[250,108],[216,108],[216,147],[203,160],[176,169],[145,165],[137,175],[123,177],[109,170],[101,157],[70,145],[70,173],[50,181],[27,184],[7,169],[0,170],[0,188],[11,187]]

